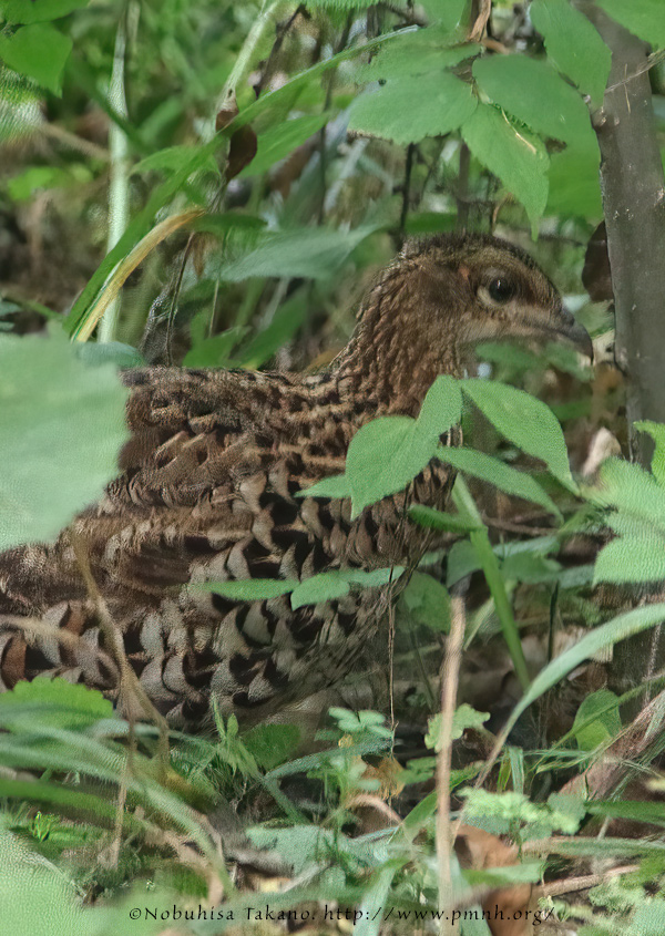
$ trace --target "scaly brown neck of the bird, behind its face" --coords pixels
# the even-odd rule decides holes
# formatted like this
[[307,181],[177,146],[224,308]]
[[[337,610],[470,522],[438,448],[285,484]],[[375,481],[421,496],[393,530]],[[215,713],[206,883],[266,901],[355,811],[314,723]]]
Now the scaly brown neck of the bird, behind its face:
[[[461,376],[454,341],[432,341],[432,311],[399,276],[381,281],[364,302],[350,342],[334,363],[340,395],[377,415],[417,415],[439,374]],[[430,318],[430,321],[428,321]],[[443,322],[438,326],[441,330]]]

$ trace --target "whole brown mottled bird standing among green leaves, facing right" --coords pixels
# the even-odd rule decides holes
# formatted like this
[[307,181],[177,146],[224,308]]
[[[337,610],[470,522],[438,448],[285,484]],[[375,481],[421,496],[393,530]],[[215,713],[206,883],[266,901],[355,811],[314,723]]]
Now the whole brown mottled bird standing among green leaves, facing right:
[[[288,595],[233,601],[188,587],[417,562],[427,537],[405,507],[444,507],[452,479],[441,463],[354,521],[348,501],[295,496],[344,471],[364,423],[417,415],[437,376],[461,376],[481,340],[563,338],[590,350],[533,260],[488,236],[408,245],[358,319],[326,373],[124,374],[132,436],[122,474],[73,528],[131,666],[174,726],[209,719],[211,697],[223,714],[254,720],[329,686],[376,632],[390,588],[294,610]],[[0,555],[0,688],[59,675],[116,698],[99,607],[69,532]],[[20,627],[21,616],[41,627]]]

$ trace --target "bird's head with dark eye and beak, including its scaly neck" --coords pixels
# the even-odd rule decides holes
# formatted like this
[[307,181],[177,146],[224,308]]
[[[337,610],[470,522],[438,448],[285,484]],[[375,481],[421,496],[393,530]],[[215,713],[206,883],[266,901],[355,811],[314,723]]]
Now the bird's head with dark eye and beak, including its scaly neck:
[[442,235],[408,243],[379,277],[347,367],[390,399],[389,410],[405,411],[438,374],[461,376],[475,344],[513,339],[564,341],[593,354],[589,333],[529,254],[488,235]]

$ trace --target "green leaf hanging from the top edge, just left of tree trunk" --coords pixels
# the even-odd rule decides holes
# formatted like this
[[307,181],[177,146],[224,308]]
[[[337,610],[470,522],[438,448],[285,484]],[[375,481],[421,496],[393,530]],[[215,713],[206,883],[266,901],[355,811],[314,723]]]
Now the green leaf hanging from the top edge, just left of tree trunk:
[[600,105],[612,53],[595,27],[569,0],[533,0],[529,16],[559,71]]

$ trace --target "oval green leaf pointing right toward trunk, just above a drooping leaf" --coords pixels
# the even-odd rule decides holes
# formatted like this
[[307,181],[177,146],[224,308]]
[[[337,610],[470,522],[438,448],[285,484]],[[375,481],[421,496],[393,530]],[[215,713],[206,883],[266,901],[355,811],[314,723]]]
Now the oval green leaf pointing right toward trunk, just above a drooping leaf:
[[475,60],[473,76],[491,101],[536,133],[577,144],[593,135],[584,102],[546,62],[488,55]]

